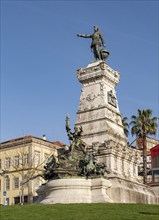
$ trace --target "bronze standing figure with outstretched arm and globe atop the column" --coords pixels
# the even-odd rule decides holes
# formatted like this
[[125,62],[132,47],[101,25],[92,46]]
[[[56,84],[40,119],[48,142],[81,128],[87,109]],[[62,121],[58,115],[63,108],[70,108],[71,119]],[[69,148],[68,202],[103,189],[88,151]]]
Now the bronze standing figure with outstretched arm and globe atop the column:
[[[78,37],[92,38],[91,49],[93,50],[95,60],[105,60],[109,56],[109,52],[105,49],[105,41],[102,33],[99,32],[97,26],[94,26],[93,34],[77,34]],[[101,44],[103,49],[100,49]]]

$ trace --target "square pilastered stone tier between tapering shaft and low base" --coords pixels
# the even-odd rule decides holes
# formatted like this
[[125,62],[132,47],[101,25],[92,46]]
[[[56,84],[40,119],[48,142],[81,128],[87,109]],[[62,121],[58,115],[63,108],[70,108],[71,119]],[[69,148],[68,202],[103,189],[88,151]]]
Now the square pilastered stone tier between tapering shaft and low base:
[[93,143],[91,147],[97,161],[106,165],[108,173],[134,181],[138,180],[140,161],[138,150],[111,140]]

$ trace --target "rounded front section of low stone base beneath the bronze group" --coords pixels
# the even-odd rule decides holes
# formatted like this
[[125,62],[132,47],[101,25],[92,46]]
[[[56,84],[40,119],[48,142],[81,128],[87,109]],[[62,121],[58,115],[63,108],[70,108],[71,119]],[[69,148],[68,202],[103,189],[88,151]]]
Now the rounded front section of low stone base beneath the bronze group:
[[36,203],[67,204],[112,202],[107,194],[107,189],[110,186],[111,182],[103,178],[50,180],[37,190],[39,199]]

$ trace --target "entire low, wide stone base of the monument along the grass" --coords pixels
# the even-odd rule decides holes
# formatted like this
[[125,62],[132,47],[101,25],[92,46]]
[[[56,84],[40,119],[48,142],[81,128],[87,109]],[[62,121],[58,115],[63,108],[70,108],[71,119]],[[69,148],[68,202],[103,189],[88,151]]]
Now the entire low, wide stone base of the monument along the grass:
[[157,204],[151,187],[110,175],[108,179],[69,178],[50,180],[37,190],[41,204],[145,203]]

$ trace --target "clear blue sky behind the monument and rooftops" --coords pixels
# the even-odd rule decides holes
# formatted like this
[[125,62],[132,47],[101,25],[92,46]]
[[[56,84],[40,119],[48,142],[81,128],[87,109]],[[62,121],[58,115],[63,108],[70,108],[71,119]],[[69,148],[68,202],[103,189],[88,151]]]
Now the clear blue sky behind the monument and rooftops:
[[1,141],[46,134],[68,143],[65,117],[73,129],[81,91],[76,70],[93,60],[90,39],[76,34],[95,24],[107,64],[120,72],[123,116],[147,108],[159,116],[158,14],[157,0],[1,0]]

